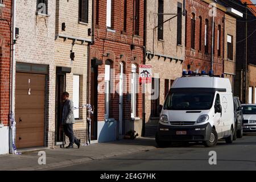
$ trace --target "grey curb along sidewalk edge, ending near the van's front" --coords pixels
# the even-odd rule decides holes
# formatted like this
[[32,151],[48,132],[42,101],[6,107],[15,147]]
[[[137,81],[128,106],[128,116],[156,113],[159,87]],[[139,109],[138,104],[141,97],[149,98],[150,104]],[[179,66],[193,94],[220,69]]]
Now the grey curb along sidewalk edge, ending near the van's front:
[[154,149],[156,149],[156,147],[154,146],[131,148],[130,150],[112,152],[108,155],[92,156],[92,157],[86,157],[81,159],[71,159],[71,160],[65,160],[62,162],[50,163],[42,166],[36,165],[36,166],[26,167],[26,168],[16,168],[11,171],[14,171],[14,170],[15,171],[39,171],[39,170],[62,168],[62,167],[74,166],[76,164],[86,163],[92,160],[102,160],[102,159],[107,159],[114,156],[133,154],[136,152],[150,151]]

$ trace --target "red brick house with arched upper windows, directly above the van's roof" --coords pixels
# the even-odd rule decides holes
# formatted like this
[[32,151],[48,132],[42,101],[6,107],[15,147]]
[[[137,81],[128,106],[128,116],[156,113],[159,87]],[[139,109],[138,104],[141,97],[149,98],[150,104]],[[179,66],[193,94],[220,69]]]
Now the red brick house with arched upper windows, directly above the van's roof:
[[[214,75],[223,73],[224,64],[224,7],[216,1],[187,0],[186,10],[186,35],[185,35],[185,61],[183,69],[200,73],[207,73],[212,69]],[[214,16],[211,13],[211,3],[216,5]],[[219,34],[218,34],[219,32]],[[213,43],[213,67],[212,67],[212,35]],[[219,36],[218,36],[219,35]]]

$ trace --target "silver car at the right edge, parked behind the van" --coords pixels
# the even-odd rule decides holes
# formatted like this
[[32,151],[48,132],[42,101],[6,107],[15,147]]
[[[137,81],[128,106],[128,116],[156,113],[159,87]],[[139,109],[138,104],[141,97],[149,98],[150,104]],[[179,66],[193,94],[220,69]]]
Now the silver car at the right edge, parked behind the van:
[[256,132],[256,104],[242,104],[243,133]]

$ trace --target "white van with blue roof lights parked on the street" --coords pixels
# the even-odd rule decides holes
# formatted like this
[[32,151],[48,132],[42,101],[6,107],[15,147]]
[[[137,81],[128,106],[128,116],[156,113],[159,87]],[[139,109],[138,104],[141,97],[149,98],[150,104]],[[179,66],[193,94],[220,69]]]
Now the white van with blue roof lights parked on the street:
[[228,78],[194,75],[177,78],[161,106],[156,143],[203,142],[213,147],[218,139],[233,142],[234,105]]

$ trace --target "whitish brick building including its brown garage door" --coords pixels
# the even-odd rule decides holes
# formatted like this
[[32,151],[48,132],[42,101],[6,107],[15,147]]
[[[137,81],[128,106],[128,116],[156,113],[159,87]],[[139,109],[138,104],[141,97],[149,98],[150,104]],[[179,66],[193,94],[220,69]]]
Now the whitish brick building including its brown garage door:
[[53,146],[56,1],[16,1],[17,148]]

